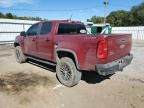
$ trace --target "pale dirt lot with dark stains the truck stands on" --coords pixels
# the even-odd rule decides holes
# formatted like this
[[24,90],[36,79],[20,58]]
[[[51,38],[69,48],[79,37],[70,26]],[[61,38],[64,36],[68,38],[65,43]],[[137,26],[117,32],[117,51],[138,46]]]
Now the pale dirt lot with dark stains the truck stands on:
[[79,85],[62,86],[55,67],[18,64],[10,46],[0,46],[0,108],[144,108],[144,46],[123,72],[100,77],[84,72]]

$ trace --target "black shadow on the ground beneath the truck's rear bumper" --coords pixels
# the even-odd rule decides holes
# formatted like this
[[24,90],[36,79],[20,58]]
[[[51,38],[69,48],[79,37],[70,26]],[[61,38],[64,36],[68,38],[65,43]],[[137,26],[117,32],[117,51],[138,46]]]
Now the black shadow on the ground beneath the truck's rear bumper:
[[111,76],[112,75],[101,76],[96,72],[82,71],[82,79],[81,80],[87,82],[88,84],[96,84],[96,83],[100,83],[104,80],[110,79]]

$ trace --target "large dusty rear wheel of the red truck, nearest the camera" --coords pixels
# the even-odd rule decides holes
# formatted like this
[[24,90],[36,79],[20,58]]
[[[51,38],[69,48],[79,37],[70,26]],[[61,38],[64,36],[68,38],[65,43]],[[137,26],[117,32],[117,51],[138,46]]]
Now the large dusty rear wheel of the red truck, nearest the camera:
[[56,66],[58,80],[65,86],[72,87],[81,80],[81,72],[76,69],[72,59],[64,57]]

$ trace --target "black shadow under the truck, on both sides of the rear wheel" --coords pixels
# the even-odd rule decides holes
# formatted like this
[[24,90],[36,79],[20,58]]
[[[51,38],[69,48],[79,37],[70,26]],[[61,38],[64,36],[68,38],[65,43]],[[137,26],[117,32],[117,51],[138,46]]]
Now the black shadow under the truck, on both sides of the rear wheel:
[[[29,61],[27,61],[27,63],[32,64],[32,65],[37,66],[37,67],[40,67],[40,68],[43,68],[43,69],[48,70],[52,73],[56,73],[56,67],[55,66],[51,66],[48,64],[34,61],[34,60],[29,60]],[[106,79],[110,79],[111,76],[112,75],[101,76],[101,75],[98,75],[96,72],[82,71],[82,79],[81,80],[87,82],[88,84],[96,84],[96,83],[100,83]]]

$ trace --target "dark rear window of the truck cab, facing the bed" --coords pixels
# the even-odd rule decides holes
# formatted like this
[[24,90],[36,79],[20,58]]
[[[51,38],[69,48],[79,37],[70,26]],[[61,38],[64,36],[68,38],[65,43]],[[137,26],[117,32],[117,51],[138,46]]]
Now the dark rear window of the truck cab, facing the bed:
[[80,31],[86,30],[82,24],[59,24],[58,34],[82,34]]

